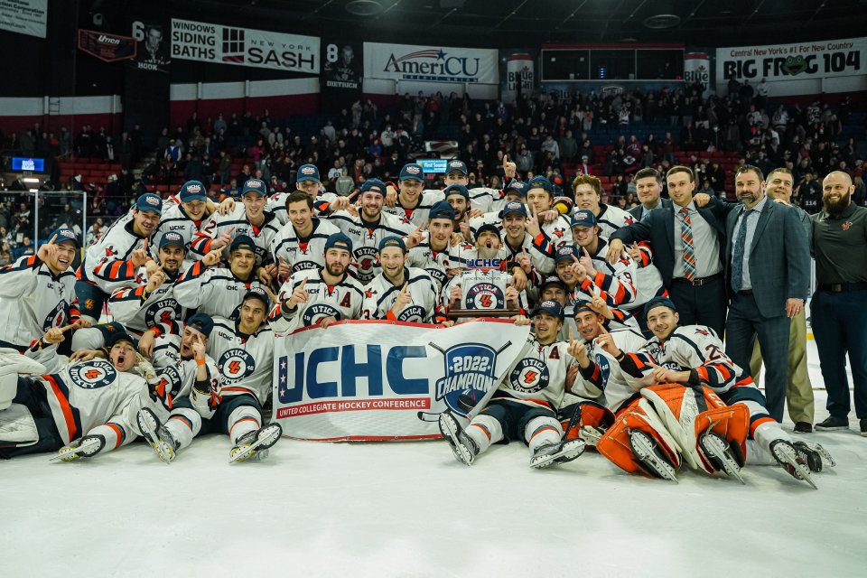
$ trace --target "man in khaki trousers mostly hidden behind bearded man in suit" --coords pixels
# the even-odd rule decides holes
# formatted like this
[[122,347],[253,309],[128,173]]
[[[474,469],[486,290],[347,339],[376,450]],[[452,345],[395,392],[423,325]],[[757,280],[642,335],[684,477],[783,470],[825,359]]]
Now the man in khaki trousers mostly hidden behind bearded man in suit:
[[[792,198],[794,179],[792,172],[786,167],[774,169],[765,179],[765,194],[770,200],[778,200],[789,205]],[[806,232],[806,243],[812,245],[813,222],[806,210],[795,205],[789,205],[797,213],[798,219]],[[806,308],[805,308],[806,309]],[[761,376],[761,350],[759,340],[756,340],[750,359],[750,373],[757,384]],[[814,399],[813,384],[806,368],[806,312],[801,310],[791,320],[788,333],[788,387],[786,388],[786,406],[788,416],[795,423],[796,433],[813,431]]]

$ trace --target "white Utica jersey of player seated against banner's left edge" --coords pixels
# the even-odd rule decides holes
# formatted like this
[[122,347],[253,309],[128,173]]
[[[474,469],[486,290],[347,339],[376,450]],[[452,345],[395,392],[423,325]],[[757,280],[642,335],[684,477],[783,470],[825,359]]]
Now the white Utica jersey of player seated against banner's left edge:
[[222,376],[224,397],[250,394],[264,405],[271,392],[274,331],[264,323],[252,335],[238,331],[238,322],[214,318],[208,354]]

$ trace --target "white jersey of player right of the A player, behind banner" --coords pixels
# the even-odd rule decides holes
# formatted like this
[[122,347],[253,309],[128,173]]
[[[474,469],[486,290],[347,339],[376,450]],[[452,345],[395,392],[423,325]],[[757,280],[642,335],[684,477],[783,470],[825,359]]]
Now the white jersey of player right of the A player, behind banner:
[[[389,319],[397,322],[429,323],[434,316],[442,313],[437,299],[436,286],[431,275],[424,269],[406,267],[404,276],[408,286],[407,293],[412,297],[400,312],[391,311],[403,285],[392,284],[385,274],[380,273],[365,287],[364,303],[361,304],[361,319]],[[445,321],[440,315],[438,321]]]

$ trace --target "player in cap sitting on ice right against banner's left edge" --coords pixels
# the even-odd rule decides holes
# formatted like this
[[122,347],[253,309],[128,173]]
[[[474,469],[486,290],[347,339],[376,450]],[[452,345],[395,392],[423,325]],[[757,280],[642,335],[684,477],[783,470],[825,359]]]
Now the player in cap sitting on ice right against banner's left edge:
[[[216,360],[222,387],[219,405],[213,417],[202,421],[200,434],[228,434],[232,443],[229,462],[264,460],[268,449],[283,433],[280,424],[262,425],[262,406],[271,394],[274,366],[274,331],[266,323],[269,303],[263,290],[251,289],[244,295],[238,320],[214,318],[207,340],[206,351]],[[187,435],[184,424],[171,420],[162,424],[147,409],[141,417],[146,424],[144,429],[158,438],[158,446],[168,447],[172,452],[180,449],[179,439]]]

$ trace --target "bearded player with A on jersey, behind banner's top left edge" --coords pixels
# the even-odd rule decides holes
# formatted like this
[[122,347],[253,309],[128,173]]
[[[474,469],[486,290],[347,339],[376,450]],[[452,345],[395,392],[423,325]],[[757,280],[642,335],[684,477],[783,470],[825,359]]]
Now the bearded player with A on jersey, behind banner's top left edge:
[[359,319],[364,288],[349,274],[352,239],[334,233],[325,241],[325,266],[295,273],[280,288],[268,319],[280,333]]

